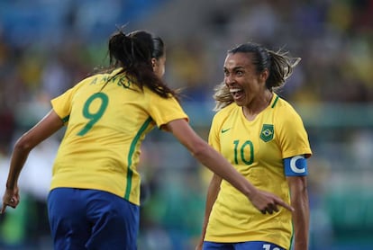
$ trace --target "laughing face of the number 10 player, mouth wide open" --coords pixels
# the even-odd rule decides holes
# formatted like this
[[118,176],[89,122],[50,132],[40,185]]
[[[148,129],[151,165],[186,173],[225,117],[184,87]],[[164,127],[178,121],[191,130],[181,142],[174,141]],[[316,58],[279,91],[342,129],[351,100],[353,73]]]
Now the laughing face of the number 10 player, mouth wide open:
[[250,107],[265,97],[268,91],[268,69],[258,73],[250,53],[229,53],[224,61],[224,83],[239,106]]

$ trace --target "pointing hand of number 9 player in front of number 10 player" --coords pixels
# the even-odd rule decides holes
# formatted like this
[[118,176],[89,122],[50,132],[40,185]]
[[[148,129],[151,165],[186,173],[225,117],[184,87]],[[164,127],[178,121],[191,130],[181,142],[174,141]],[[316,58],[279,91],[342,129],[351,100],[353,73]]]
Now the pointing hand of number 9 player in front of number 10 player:
[[250,196],[251,203],[262,213],[262,214],[272,214],[278,211],[278,206],[284,207],[289,211],[294,211],[287,202],[282,201],[277,195],[271,192],[265,192],[257,190]]

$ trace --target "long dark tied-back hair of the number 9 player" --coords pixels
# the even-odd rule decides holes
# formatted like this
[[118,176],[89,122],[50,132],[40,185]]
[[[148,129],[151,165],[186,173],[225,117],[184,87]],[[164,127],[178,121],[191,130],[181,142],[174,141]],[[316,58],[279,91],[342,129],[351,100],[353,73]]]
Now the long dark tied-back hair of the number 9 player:
[[147,86],[161,97],[177,98],[177,93],[153,71],[151,59],[159,59],[165,55],[165,45],[159,37],[148,31],[132,31],[125,34],[123,29],[120,29],[110,37],[108,54],[110,66],[106,67],[104,72],[123,67],[115,76],[124,73],[125,77],[135,79],[132,83],[138,85],[141,90]]

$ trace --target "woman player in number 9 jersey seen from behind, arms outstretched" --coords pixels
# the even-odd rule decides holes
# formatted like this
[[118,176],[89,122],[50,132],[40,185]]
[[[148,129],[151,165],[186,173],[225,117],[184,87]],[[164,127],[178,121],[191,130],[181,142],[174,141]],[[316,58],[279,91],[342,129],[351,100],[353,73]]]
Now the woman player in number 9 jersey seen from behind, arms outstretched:
[[[54,249],[136,249],[141,141],[171,132],[203,165],[238,188],[257,210],[292,208],[260,191],[189,126],[177,94],[162,80],[163,41],[147,31],[109,40],[111,67],[51,101],[52,110],[14,146],[1,213],[19,201],[18,177],[33,147],[66,125],[56,156],[48,212]],[[172,152],[170,152],[172,154]]]

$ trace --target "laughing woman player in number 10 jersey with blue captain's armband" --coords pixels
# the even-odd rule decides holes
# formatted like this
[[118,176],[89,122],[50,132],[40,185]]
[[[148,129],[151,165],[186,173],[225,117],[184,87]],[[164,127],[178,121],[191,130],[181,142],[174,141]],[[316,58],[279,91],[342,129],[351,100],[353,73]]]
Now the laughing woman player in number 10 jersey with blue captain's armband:
[[308,247],[306,158],[312,152],[303,121],[273,92],[298,62],[245,43],[228,51],[224,82],[209,143],[250,183],[291,201],[295,211],[260,213],[230,183],[214,174],[207,193],[203,237],[196,249],[282,250]]

